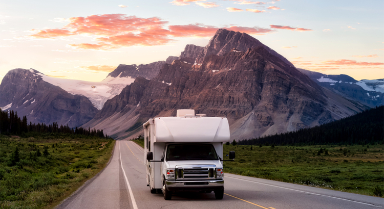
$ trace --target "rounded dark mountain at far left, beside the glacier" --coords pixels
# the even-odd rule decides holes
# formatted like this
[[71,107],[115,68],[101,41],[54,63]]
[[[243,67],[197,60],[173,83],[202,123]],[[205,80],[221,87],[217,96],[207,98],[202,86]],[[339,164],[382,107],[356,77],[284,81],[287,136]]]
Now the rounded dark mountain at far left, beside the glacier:
[[0,84],[0,107],[17,111],[32,123],[82,125],[97,113],[91,101],[82,95],[71,94],[46,82],[48,77],[37,70],[10,70]]

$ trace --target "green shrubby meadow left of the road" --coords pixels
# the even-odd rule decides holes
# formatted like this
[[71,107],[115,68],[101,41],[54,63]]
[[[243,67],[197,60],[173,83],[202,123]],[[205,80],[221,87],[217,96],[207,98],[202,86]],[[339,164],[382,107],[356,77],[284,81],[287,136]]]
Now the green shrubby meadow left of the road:
[[114,144],[0,136],[0,207],[53,208],[105,167]]

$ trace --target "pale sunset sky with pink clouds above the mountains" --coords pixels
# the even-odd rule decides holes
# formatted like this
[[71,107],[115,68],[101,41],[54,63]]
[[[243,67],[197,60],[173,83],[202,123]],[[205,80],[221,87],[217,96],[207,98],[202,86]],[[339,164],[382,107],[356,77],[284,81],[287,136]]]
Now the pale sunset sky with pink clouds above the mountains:
[[36,69],[101,81],[119,64],[179,56],[220,29],[257,38],[297,68],[384,78],[384,1],[0,1],[0,79]]

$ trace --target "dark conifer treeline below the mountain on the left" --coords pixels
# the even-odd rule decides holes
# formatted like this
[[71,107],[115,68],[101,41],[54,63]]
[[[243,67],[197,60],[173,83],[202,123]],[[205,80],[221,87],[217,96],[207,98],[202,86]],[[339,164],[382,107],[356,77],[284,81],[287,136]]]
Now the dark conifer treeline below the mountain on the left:
[[23,119],[18,117],[16,112],[2,111],[0,109],[0,134],[3,135],[17,135],[22,137],[41,136],[41,135],[65,135],[65,136],[84,136],[84,137],[96,137],[110,139],[108,135],[104,135],[103,130],[90,129],[83,127],[71,128],[68,125],[58,126],[57,122],[52,124],[37,123],[28,124],[27,116],[23,116]]

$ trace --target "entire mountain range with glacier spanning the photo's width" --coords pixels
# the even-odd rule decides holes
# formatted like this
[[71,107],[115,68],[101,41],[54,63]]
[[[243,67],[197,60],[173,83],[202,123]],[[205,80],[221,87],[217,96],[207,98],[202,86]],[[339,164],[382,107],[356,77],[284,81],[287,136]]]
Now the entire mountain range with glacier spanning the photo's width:
[[[188,44],[180,57],[119,65],[101,82],[10,70],[0,84],[0,107],[34,123],[103,129],[115,139],[142,134],[141,126],[127,130],[148,118],[195,109],[227,117],[232,138],[245,139],[324,124],[382,103],[382,80],[360,81],[368,91],[351,77],[319,74],[296,69],[247,34],[220,29],[205,47]],[[345,82],[356,90],[341,87]]]

